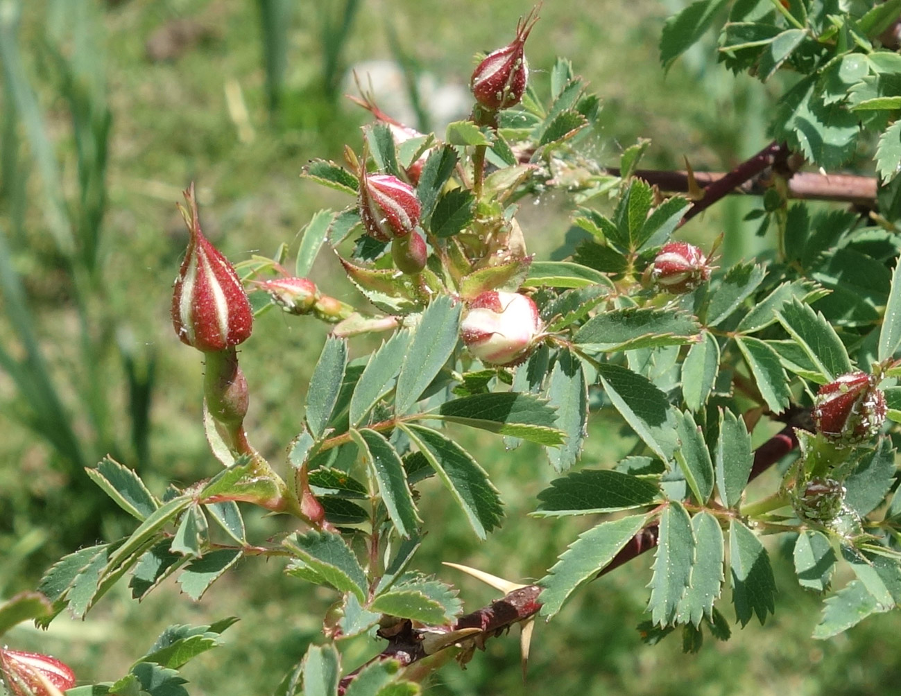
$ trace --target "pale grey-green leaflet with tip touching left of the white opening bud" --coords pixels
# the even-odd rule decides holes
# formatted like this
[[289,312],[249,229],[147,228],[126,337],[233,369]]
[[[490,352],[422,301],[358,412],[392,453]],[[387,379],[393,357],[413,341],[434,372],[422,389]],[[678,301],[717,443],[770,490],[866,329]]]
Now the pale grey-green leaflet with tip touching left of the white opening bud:
[[423,312],[397,377],[397,415],[409,411],[457,346],[460,303],[442,294]]

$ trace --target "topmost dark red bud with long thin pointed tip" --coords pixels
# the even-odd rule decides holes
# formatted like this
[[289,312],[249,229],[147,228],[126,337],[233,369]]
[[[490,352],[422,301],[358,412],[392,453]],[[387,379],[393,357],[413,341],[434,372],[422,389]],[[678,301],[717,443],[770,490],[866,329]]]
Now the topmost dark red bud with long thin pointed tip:
[[469,89],[478,104],[496,111],[519,104],[529,78],[525,40],[538,21],[535,9],[516,24],[516,38],[503,49],[493,50],[469,78]]

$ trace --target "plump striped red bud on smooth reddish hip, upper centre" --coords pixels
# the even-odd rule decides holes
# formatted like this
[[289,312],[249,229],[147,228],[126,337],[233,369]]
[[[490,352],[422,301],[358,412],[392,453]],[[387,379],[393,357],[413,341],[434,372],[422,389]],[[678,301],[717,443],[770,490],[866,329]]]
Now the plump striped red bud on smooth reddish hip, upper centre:
[[387,174],[360,176],[359,214],[371,237],[379,241],[406,237],[419,224],[421,213],[413,186]]

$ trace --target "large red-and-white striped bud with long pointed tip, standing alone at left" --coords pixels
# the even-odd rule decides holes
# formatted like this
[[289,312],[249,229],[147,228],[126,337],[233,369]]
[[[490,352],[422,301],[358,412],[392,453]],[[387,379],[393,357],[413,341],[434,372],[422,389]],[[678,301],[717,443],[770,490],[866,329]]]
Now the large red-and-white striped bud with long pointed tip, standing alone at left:
[[232,264],[200,230],[192,184],[185,192],[188,210],[178,209],[191,237],[172,295],[172,324],[178,338],[206,353],[237,346],[250,337],[253,313]]

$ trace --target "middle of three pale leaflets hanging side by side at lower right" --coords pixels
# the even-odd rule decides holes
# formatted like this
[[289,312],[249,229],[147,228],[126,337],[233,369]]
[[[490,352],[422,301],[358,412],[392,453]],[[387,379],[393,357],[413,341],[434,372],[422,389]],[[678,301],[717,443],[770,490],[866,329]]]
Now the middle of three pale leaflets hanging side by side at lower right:
[[714,601],[723,587],[724,540],[720,522],[707,511],[691,520],[695,534],[695,560],[685,596],[678,603],[676,622],[699,626],[714,620]]

